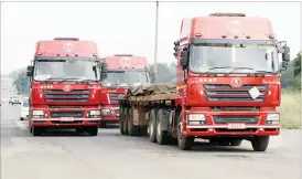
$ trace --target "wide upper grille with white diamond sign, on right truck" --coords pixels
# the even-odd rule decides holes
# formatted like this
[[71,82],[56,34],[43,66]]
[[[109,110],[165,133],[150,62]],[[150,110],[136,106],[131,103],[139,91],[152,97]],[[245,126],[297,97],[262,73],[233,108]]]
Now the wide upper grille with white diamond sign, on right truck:
[[[248,91],[255,86],[260,91],[260,96],[252,99]],[[208,102],[265,102],[268,93],[268,85],[231,87],[227,84],[206,84],[204,88]]]

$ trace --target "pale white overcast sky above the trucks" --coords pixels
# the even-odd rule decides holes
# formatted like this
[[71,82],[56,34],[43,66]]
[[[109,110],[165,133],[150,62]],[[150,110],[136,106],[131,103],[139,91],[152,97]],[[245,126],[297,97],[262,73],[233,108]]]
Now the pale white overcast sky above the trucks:
[[[292,57],[301,50],[299,2],[160,2],[158,62],[175,62],[183,18],[212,12],[268,18]],[[101,56],[131,53],[153,63],[155,2],[2,2],[1,73],[29,65],[36,42],[57,36],[94,41]]]

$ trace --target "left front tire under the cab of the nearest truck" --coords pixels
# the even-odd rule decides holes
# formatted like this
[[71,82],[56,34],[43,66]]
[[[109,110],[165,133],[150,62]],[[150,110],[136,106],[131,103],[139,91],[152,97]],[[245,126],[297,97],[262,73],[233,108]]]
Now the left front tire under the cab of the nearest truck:
[[181,150],[191,150],[193,143],[194,143],[194,137],[191,136],[185,136],[182,133],[182,120],[183,120],[183,114],[182,112],[179,115],[179,123],[177,123],[177,144],[179,148]]

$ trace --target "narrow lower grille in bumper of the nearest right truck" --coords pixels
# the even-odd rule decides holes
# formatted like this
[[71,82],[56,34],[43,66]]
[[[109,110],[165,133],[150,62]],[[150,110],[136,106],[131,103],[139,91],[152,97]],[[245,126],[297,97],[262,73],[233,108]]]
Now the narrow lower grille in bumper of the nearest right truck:
[[259,116],[213,116],[215,124],[227,124],[227,123],[246,123],[246,124],[258,124]]

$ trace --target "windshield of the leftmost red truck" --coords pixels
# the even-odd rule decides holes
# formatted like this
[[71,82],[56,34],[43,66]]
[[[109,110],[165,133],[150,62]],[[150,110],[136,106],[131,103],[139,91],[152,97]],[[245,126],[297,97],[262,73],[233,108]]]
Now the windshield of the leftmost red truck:
[[[35,81],[99,81],[99,70],[93,71],[96,61],[35,61]],[[97,76],[97,77],[96,77]]]

